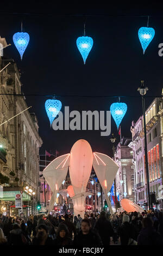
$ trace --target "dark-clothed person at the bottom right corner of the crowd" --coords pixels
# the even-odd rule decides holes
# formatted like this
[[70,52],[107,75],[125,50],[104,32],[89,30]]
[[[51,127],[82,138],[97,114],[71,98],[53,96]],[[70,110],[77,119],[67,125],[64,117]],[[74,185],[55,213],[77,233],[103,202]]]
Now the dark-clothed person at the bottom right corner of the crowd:
[[142,225],[143,229],[137,237],[137,245],[163,245],[162,236],[154,230],[151,218],[143,218]]

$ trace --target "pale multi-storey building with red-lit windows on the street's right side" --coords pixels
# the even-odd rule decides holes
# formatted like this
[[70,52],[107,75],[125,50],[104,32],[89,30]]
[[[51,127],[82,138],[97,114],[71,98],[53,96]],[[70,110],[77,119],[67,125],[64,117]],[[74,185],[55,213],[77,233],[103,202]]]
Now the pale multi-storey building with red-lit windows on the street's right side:
[[[163,96],[163,95],[162,95]],[[162,154],[163,154],[163,117],[162,98],[155,98],[146,109],[147,152],[150,192],[156,193],[157,204],[153,207],[162,209]],[[132,141],[129,146],[133,148],[135,200],[141,207],[146,208],[147,178],[145,166],[145,141],[143,129],[143,116],[131,124]]]

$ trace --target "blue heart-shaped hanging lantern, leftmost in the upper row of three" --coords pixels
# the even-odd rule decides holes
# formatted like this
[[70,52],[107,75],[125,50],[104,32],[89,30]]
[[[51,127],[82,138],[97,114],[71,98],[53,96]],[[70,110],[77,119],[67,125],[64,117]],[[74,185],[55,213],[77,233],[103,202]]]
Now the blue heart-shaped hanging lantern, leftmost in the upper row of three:
[[13,41],[18,52],[20,53],[22,60],[23,53],[26,50],[27,45],[29,43],[29,34],[24,32],[17,32],[13,35]]

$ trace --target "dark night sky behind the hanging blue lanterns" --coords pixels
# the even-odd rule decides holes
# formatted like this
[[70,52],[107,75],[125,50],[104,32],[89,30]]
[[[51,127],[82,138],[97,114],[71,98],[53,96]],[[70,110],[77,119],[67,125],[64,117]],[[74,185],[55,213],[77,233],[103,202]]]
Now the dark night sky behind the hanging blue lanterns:
[[[132,120],[142,114],[141,99],[137,98],[140,80],[145,80],[149,91],[147,96],[160,96],[162,90],[163,56],[158,55],[158,45],[163,43],[163,14],[159,3],[135,4],[130,7],[118,5],[70,5],[58,6],[48,3],[46,6],[28,2],[28,5],[10,3],[0,11],[0,35],[12,45],[4,50],[4,56],[11,57],[21,70],[22,91],[24,93],[49,93],[60,95],[126,96],[121,102],[128,105],[128,111],[122,121],[122,136],[131,137]],[[149,3],[149,2],[148,2]],[[87,8],[87,9],[85,9]],[[11,14],[11,13],[27,13]],[[10,14],[9,14],[10,13]],[[29,15],[32,13],[32,15]],[[53,15],[51,15],[53,14]],[[62,15],[56,15],[62,14]],[[69,15],[72,14],[72,15]],[[83,64],[76,39],[83,35],[85,17],[86,35],[93,38],[93,47]],[[112,16],[108,16],[112,15]],[[124,15],[122,17],[122,15]],[[145,55],[137,35],[140,27],[147,26],[147,17],[151,15],[149,27],[155,29],[155,37],[147,47]],[[30,41],[21,62],[20,55],[12,41],[12,36],[21,31],[28,32]],[[129,97],[136,96],[136,97]],[[26,97],[39,120],[39,133],[43,140],[41,153],[68,153],[78,139],[89,141],[92,150],[111,156],[110,136],[101,136],[100,131],[54,131],[49,126],[45,111],[47,97]],[[57,97],[71,110],[110,110],[117,98]],[[147,98],[147,106],[153,97]],[[111,131],[118,136],[116,124],[111,120]]]

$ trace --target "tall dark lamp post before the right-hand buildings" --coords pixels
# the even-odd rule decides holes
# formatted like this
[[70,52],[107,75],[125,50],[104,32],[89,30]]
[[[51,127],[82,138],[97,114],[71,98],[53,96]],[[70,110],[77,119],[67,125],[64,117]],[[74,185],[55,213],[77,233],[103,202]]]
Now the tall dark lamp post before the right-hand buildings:
[[144,122],[144,132],[145,132],[145,159],[146,159],[146,178],[147,178],[147,203],[150,209],[150,190],[149,190],[149,172],[148,172],[148,154],[147,154],[147,133],[146,133],[146,116],[145,116],[145,94],[148,91],[148,87],[145,87],[144,81],[141,81],[141,87],[137,89],[140,92],[142,99],[142,110],[143,110],[143,122]]

